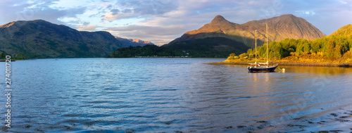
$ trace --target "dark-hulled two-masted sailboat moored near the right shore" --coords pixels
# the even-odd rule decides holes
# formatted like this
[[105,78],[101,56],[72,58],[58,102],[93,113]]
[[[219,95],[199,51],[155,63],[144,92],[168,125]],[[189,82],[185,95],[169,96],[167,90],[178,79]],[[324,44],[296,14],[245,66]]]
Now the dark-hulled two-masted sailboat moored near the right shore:
[[276,65],[269,65],[269,44],[268,44],[268,24],[266,25],[266,58],[267,61],[266,63],[257,63],[257,30],[256,30],[256,62],[255,63],[249,63],[248,70],[249,72],[274,72],[275,69],[277,68]]

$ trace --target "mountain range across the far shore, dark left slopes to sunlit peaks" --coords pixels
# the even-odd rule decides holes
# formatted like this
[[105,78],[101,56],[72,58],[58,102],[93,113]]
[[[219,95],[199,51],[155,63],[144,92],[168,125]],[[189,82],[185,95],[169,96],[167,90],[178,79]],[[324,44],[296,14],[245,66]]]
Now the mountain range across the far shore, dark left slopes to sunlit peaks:
[[[253,46],[256,30],[258,45],[265,42],[266,24],[269,27],[270,42],[286,38],[312,40],[326,36],[303,18],[291,14],[252,20],[241,25],[216,15],[210,23],[198,30],[184,33],[182,37],[160,46],[161,49],[156,48],[158,46],[148,46],[146,49],[158,49],[163,56],[175,56],[178,53],[183,55],[189,52],[190,56],[191,52],[197,55],[193,57],[225,57],[229,53],[240,54]],[[152,43],[140,39],[114,37],[109,32],[103,31],[77,31],[45,20],[20,20],[0,26],[0,52],[11,55],[22,53],[27,58],[105,57],[117,49],[146,44]],[[130,49],[126,55],[133,57],[141,53],[140,50]]]

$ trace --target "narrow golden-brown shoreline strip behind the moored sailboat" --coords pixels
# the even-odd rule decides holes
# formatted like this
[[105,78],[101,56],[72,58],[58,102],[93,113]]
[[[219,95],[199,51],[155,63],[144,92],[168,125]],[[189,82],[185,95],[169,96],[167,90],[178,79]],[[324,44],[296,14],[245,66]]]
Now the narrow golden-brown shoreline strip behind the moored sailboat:
[[[210,65],[249,65],[252,61],[231,61],[231,62],[215,62],[215,63],[206,63]],[[289,66],[322,66],[322,67],[343,67],[343,68],[352,68],[352,63],[316,63],[316,62],[294,62],[294,61],[277,61],[271,64],[279,65],[289,65]]]

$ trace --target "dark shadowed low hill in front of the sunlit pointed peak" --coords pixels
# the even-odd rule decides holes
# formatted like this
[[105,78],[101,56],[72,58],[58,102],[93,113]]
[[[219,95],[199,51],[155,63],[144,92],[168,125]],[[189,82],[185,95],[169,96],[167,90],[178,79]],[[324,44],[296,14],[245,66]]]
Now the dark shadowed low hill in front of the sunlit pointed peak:
[[[222,40],[222,42],[218,42]],[[241,42],[222,37],[192,39],[171,45],[130,46],[118,49],[107,56],[109,58],[144,57],[194,57],[194,58],[227,58],[230,53],[244,53],[249,49]]]

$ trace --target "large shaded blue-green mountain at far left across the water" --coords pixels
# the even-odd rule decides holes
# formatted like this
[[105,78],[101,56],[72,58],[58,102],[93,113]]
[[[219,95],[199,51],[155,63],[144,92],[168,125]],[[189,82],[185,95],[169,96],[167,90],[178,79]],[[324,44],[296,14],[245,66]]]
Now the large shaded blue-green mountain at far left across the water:
[[83,32],[45,20],[15,21],[0,26],[0,51],[27,58],[104,57],[125,47],[109,32]]

